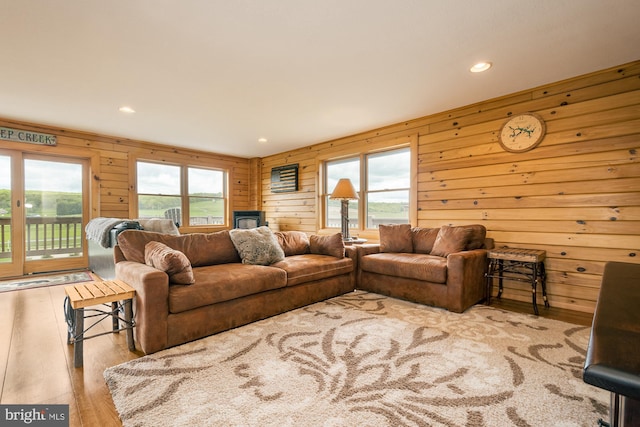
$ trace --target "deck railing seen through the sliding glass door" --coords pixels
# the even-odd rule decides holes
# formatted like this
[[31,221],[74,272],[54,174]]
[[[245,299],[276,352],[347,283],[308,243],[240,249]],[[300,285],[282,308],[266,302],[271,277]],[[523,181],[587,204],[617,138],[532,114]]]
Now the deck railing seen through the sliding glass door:
[[[82,217],[27,217],[27,258],[82,253]],[[0,259],[11,257],[11,219],[0,218]]]

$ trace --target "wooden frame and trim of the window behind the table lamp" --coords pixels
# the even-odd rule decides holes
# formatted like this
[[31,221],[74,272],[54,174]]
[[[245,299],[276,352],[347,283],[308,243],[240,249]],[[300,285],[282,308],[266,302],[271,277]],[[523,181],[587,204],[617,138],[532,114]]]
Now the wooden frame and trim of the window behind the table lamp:
[[[327,164],[334,161],[344,161],[350,158],[359,158],[360,160],[360,188],[358,189],[358,227],[350,228],[352,235],[360,238],[377,240],[379,238],[377,228],[367,228],[366,221],[366,198],[368,195],[367,186],[367,156],[371,154],[379,154],[388,151],[394,151],[403,148],[409,148],[410,165],[409,165],[409,224],[417,225],[417,200],[418,200],[418,183],[417,183],[417,165],[418,165],[418,134],[411,134],[393,139],[387,139],[372,143],[367,140],[366,150],[355,150],[342,152],[341,155],[328,154],[322,158],[318,158],[318,224],[319,233],[331,234],[340,231],[340,227],[328,227],[327,224],[327,200],[333,189],[327,188]],[[356,145],[355,143],[352,143]],[[363,145],[359,144],[359,147]]]

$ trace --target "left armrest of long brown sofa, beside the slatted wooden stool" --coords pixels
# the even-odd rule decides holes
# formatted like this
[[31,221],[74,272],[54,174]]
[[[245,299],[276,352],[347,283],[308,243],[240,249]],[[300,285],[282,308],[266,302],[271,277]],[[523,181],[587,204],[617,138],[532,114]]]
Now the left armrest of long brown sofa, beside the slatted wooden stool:
[[142,351],[149,354],[165,348],[169,315],[167,273],[139,262],[121,261],[116,264],[116,278],[136,290],[134,332]]

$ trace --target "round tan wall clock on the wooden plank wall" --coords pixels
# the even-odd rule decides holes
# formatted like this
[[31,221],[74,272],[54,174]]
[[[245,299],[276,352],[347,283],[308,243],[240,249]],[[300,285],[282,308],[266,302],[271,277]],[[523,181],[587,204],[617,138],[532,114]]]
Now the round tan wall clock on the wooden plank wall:
[[502,125],[498,139],[505,150],[522,153],[540,144],[545,131],[542,117],[534,113],[523,113],[511,117]]

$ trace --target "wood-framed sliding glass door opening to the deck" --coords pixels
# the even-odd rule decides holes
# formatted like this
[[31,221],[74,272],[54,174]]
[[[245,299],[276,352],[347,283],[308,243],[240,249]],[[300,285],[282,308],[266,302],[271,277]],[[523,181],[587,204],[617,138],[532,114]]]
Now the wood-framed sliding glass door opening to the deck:
[[0,150],[0,278],[87,266],[88,161]]

